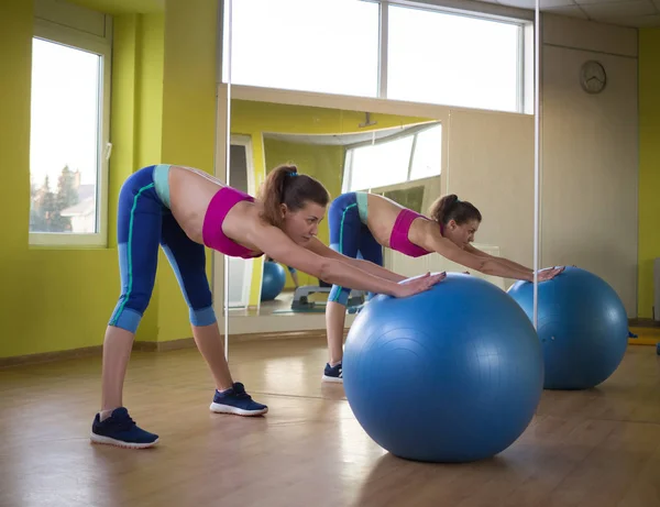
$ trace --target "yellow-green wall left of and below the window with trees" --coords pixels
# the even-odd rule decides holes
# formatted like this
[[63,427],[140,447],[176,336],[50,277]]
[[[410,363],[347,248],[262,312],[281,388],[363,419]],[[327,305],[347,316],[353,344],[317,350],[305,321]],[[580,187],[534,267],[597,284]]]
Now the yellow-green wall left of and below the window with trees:
[[29,246],[32,33],[33,2],[0,2],[0,357],[100,344],[119,288],[112,250]]

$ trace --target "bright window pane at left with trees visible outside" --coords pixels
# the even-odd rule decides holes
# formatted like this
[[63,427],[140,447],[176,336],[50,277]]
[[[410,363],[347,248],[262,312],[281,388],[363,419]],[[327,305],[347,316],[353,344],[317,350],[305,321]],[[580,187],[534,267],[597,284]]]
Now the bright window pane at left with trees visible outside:
[[30,232],[96,233],[99,55],[33,40]]

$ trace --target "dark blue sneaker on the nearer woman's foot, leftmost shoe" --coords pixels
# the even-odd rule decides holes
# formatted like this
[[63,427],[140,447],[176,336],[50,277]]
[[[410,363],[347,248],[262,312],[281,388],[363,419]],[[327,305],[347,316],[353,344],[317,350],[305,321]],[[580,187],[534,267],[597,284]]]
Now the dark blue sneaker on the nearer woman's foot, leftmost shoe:
[[129,410],[119,407],[109,418],[101,421],[97,414],[91,425],[90,439],[94,443],[107,443],[120,448],[145,449],[158,441],[158,436],[144,431],[129,416]]

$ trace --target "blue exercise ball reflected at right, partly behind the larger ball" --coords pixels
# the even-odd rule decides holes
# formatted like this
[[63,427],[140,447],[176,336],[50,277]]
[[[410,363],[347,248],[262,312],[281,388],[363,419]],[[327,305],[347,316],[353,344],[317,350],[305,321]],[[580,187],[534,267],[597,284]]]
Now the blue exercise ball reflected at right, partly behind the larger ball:
[[[534,319],[534,284],[517,282],[508,294]],[[601,277],[566,267],[538,290],[538,335],[546,389],[588,389],[606,381],[628,346],[628,316]]]

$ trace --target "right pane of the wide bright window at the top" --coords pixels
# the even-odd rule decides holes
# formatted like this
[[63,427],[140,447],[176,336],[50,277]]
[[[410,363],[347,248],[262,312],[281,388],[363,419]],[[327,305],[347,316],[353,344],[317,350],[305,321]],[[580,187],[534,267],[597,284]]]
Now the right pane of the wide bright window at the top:
[[389,7],[387,98],[518,110],[517,24]]

